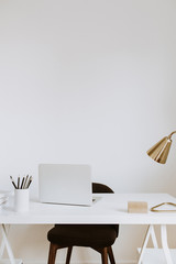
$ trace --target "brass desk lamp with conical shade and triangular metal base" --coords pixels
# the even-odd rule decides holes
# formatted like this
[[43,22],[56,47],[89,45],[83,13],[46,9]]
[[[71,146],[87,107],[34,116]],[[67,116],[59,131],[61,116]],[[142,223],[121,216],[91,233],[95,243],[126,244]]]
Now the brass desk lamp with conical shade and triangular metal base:
[[[163,138],[161,141],[158,141],[154,146],[152,146],[146,153],[150,157],[152,157],[155,162],[165,164],[168,152],[172,145],[172,135],[175,134],[176,131],[173,131],[168,136]],[[162,202],[157,206],[154,206],[151,208],[151,211],[163,211],[157,210],[156,208],[164,206],[164,205],[172,205],[176,207],[176,204],[173,202]],[[176,211],[176,210],[166,210],[166,211]]]

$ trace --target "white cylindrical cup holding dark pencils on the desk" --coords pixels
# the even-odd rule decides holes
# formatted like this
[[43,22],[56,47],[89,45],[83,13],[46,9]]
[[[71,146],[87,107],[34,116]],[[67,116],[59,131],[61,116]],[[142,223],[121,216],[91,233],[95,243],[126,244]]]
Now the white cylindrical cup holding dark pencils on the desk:
[[30,194],[29,189],[14,189],[14,211],[29,211]]

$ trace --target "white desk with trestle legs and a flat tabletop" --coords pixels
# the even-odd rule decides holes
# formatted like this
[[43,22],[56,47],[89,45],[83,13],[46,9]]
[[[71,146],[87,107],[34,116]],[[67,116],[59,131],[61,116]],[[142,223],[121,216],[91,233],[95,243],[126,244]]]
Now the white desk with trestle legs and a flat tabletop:
[[[161,226],[161,238],[164,255],[167,264],[173,264],[167,246],[166,224],[176,224],[176,212],[128,213],[128,201],[146,201],[148,208],[163,201],[176,202],[176,198],[167,194],[103,194],[95,195],[100,199],[91,207],[63,206],[30,202],[29,212],[14,212],[11,202],[0,210],[0,224],[2,226],[3,243],[0,255],[7,246],[10,262],[14,264],[14,257],[8,241],[7,224],[51,224],[51,223],[119,223],[119,224],[148,224],[148,231],[144,240],[139,264],[144,263],[143,257],[150,235],[157,248],[153,224]],[[20,235],[19,235],[20,237]],[[155,263],[156,264],[156,263]]]

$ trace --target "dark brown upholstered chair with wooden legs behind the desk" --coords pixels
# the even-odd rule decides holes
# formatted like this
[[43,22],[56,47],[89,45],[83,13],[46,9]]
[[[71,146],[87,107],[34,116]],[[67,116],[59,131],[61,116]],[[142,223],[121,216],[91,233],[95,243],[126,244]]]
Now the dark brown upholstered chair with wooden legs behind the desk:
[[[113,193],[108,186],[92,184],[92,193]],[[69,264],[73,246],[87,246],[101,254],[102,264],[116,264],[112,244],[119,234],[119,224],[55,224],[47,233],[51,242],[48,264],[55,263],[56,252],[68,248],[66,264]]]

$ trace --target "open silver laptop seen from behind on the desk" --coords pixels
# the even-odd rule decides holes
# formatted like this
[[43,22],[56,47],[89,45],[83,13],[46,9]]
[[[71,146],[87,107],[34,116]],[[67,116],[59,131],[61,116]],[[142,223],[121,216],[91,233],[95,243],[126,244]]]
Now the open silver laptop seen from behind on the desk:
[[91,206],[90,166],[40,164],[38,191],[41,202]]

